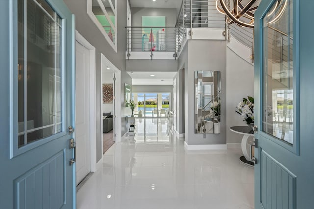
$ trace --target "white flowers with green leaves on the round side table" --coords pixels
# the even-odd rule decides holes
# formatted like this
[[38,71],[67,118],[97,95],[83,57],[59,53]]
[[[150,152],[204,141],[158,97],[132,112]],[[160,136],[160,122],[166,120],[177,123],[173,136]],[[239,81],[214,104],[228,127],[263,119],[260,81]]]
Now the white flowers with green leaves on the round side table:
[[236,111],[243,117],[243,121],[252,129],[254,127],[254,98],[248,96],[247,99],[243,98],[242,102],[236,106]]

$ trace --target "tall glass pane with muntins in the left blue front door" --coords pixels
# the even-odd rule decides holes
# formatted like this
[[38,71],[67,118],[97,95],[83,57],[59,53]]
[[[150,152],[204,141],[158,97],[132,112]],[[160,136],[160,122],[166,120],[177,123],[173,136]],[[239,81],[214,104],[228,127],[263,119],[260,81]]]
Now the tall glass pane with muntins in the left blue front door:
[[44,0],[19,0],[18,25],[18,147],[22,147],[62,131],[62,21]]

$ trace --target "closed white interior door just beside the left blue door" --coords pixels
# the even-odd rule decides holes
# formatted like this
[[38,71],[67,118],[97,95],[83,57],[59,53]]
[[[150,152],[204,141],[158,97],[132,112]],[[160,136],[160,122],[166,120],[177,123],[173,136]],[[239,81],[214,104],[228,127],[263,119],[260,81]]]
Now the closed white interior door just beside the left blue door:
[[76,146],[78,185],[90,172],[89,49],[76,41]]

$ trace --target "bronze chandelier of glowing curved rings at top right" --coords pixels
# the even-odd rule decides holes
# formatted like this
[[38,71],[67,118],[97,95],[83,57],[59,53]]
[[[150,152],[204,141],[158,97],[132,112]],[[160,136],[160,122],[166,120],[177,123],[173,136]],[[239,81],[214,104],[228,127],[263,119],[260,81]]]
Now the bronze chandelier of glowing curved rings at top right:
[[[220,6],[218,5],[218,1],[220,2]],[[242,27],[254,27],[254,12],[256,11],[258,5],[260,4],[260,0],[246,0],[246,5],[243,5],[244,0],[234,0],[234,8],[229,11],[230,2],[228,1],[228,6],[224,2],[224,0],[216,0],[216,8],[217,10],[227,15],[226,24],[237,23]],[[275,15],[276,17],[272,20],[278,20],[282,16],[287,6],[287,0],[277,0],[275,3],[275,8],[272,10],[271,15]]]

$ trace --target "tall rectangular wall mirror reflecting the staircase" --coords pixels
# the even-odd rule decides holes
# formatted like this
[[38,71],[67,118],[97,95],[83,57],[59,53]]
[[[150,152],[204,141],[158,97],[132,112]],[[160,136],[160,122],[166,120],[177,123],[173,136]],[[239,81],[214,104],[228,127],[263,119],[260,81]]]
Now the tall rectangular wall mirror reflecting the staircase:
[[195,133],[220,133],[220,71],[195,71]]

